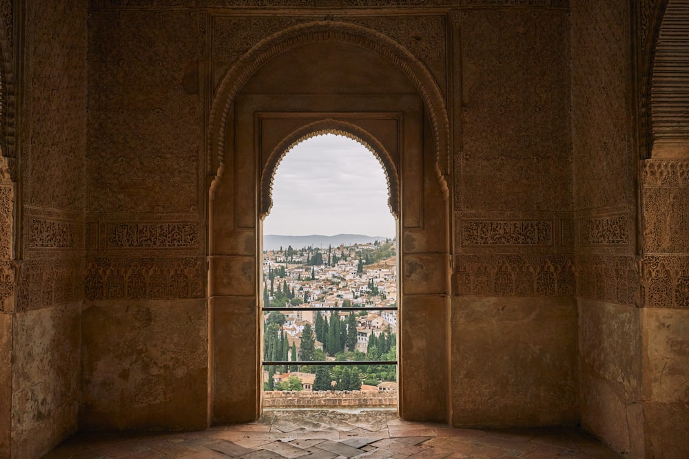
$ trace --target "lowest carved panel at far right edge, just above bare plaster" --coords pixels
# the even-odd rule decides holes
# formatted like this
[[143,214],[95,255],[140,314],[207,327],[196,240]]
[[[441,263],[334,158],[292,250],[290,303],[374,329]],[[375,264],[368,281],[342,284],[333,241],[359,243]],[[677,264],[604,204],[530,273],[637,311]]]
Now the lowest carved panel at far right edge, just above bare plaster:
[[689,308],[689,255],[644,257],[641,295],[647,308]]

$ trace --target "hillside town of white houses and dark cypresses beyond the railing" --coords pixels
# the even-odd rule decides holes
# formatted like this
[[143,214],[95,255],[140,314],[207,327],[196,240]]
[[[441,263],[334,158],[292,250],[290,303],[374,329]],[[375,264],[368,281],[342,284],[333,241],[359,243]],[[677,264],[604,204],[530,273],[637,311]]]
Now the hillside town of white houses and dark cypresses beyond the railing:
[[[395,361],[397,311],[360,308],[396,306],[394,239],[263,253],[264,361]],[[264,381],[271,391],[389,392],[396,368],[266,365]]]

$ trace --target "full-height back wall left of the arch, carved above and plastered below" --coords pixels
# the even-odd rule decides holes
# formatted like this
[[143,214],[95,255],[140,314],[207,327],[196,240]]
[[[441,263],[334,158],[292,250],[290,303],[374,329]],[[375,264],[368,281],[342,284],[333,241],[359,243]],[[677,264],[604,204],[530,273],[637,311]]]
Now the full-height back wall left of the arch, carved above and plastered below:
[[204,94],[183,84],[206,24],[196,10],[90,12],[87,429],[207,425]]

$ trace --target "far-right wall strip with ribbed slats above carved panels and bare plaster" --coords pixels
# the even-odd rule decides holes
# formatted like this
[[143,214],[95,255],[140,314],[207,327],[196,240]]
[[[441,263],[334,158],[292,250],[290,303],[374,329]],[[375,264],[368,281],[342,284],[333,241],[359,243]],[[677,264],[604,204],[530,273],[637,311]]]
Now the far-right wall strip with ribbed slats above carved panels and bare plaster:
[[661,19],[649,70],[653,145],[640,165],[646,451],[668,458],[689,455],[680,427],[689,423],[688,7],[685,0],[656,6]]

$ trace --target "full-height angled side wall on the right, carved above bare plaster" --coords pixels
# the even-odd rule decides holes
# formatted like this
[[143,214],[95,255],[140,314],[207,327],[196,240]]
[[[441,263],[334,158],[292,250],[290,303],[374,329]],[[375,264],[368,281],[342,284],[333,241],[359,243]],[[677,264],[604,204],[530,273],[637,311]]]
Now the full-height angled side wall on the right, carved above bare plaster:
[[641,458],[630,3],[577,1],[570,8],[582,425]]

